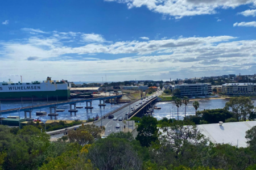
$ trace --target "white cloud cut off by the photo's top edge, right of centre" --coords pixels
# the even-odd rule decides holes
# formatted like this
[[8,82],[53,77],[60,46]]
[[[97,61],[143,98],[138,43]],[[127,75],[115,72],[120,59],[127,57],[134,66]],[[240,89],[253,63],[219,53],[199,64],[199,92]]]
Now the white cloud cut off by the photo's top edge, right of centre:
[[146,6],[148,10],[164,15],[183,16],[216,14],[217,8],[236,8],[241,5],[256,5],[255,0],[105,0],[126,3],[128,8]]

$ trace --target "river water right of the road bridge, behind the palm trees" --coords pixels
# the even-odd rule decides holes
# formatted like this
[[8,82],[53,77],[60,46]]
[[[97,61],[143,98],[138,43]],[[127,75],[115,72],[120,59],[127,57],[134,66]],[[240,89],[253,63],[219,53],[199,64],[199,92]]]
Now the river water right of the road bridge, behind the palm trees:
[[[226,102],[228,102],[228,99],[213,99],[213,100],[199,100],[199,109],[197,111],[203,111],[204,109],[221,109],[225,107]],[[256,106],[256,100],[254,101],[254,106]],[[158,120],[162,119],[163,117],[172,118],[172,106],[174,111],[174,118],[177,119],[177,107],[174,103],[174,101],[166,101],[166,102],[159,102],[156,103],[156,107],[160,107],[160,110],[154,110],[154,117]],[[171,114],[170,114],[171,113]],[[193,107],[193,101],[190,101],[187,105],[187,116],[189,115],[195,115],[195,108]],[[179,108],[179,120],[183,120],[185,115],[185,105],[181,105]]]

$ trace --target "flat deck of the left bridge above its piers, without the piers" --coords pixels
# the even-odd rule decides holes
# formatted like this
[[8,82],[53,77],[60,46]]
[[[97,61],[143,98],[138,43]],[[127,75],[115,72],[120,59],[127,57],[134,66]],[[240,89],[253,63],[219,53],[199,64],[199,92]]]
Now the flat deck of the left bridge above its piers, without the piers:
[[23,107],[23,108],[14,108],[14,109],[7,109],[1,111],[1,114],[9,114],[9,113],[15,113],[15,112],[22,112],[22,111],[31,111],[34,109],[40,109],[40,108],[47,108],[47,107],[56,107],[57,105],[65,105],[65,104],[75,104],[75,103],[83,103],[86,101],[92,101],[92,100],[105,100],[105,99],[113,99],[116,97],[122,97],[122,95],[118,96],[108,96],[108,97],[94,97],[89,99],[77,99],[72,101],[60,101],[57,103],[49,103],[49,104],[41,104],[41,105],[34,105],[30,107]]

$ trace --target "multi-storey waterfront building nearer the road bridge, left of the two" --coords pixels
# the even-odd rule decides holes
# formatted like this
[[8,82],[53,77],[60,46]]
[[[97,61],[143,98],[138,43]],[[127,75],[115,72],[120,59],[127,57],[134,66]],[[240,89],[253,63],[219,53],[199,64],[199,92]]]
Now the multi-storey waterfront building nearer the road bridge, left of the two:
[[196,84],[176,84],[175,89],[179,88],[181,96],[197,97],[206,96],[212,93],[212,84],[196,83]]

